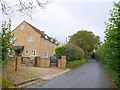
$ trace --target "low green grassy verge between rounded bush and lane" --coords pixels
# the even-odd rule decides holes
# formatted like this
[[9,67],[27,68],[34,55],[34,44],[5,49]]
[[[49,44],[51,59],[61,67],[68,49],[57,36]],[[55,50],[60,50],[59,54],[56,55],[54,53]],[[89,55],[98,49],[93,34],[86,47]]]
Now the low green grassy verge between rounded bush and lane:
[[81,64],[84,64],[84,63],[86,63],[85,59],[68,61],[66,67],[67,68],[76,68],[76,67],[79,67]]

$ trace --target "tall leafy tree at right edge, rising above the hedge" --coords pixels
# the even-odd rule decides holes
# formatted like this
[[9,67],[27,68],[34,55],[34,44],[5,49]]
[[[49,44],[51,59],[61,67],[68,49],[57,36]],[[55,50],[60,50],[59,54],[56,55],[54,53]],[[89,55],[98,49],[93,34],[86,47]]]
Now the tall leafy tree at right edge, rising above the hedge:
[[[109,61],[111,68],[118,71],[117,64],[120,64],[120,4],[114,3],[113,9],[110,12],[110,18],[106,23],[105,43],[111,49]],[[114,64],[114,65],[113,65]],[[114,67],[113,67],[114,66]]]

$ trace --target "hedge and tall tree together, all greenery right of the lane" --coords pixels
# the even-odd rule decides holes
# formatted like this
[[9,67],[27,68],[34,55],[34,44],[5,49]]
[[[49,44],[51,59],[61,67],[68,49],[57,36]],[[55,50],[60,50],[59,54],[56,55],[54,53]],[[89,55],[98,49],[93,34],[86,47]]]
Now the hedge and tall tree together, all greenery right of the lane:
[[96,58],[105,66],[120,88],[120,4],[114,3],[106,23],[105,43],[98,47]]

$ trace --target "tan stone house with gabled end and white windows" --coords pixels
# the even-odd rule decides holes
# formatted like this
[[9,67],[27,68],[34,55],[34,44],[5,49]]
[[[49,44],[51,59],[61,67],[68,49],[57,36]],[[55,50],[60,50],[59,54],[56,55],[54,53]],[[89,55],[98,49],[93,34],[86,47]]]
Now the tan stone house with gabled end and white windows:
[[14,34],[12,41],[15,41],[13,48],[16,55],[50,58],[55,54],[57,41],[26,21],[17,26],[12,34]]

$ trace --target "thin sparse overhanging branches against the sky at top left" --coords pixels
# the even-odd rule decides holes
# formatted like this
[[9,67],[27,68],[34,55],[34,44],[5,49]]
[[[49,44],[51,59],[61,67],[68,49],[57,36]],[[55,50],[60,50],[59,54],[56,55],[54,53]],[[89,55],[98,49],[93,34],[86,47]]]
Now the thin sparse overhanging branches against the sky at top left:
[[38,10],[38,8],[45,9],[46,5],[51,3],[52,0],[16,0],[11,3],[7,0],[0,0],[1,11],[5,15],[20,12],[23,15],[28,15],[31,18],[31,14]]

